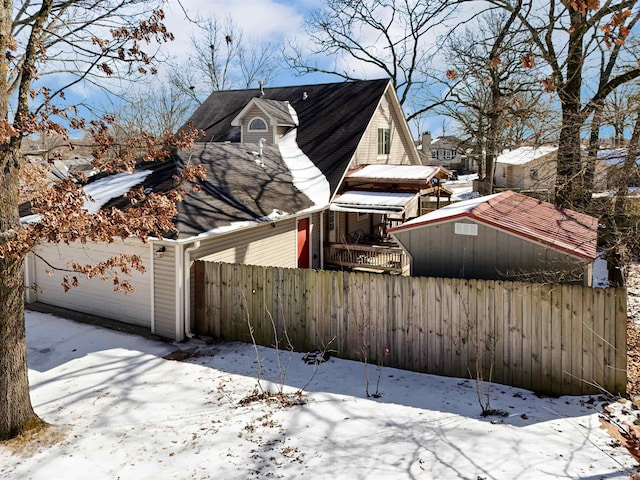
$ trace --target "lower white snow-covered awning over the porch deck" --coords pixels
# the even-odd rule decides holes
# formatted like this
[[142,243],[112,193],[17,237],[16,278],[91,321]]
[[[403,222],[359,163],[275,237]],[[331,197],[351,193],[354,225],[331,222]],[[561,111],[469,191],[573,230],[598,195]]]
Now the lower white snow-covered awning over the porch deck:
[[378,213],[390,218],[402,218],[418,205],[418,193],[347,191],[337,197],[329,210],[350,213]]

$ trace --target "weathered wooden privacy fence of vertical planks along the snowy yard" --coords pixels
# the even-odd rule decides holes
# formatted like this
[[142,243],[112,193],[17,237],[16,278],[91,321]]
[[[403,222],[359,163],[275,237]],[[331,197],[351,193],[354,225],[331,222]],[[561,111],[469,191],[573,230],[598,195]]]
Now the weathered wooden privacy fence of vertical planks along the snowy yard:
[[198,334],[482,378],[626,391],[626,291],[195,262]]

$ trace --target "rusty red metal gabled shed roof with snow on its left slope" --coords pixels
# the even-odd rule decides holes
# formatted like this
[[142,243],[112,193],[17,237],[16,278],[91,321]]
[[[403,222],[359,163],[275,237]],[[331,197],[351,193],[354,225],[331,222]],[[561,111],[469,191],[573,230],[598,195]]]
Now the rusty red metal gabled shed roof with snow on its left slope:
[[402,232],[458,218],[470,218],[580,258],[596,258],[598,220],[595,217],[557,208],[512,191],[453,203],[390,228],[388,232]]

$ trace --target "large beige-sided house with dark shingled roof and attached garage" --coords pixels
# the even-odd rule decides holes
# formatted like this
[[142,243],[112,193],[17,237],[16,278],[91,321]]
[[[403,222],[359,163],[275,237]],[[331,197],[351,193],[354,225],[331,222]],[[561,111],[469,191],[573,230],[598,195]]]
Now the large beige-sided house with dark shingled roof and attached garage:
[[[192,149],[174,152],[170,161],[141,164],[128,179],[112,176],[85,187],[102,192],[92,193],[96,202],[90,208],[123,206],[122,194],[131,187],[164,191],[185,163],[203,164],[207,178],[200,191],[178,204],[178,234],[147,245],[132,238],[40,246],[26,262],[26,283],[38,286],[28,291],[27,301],[139,324],[182,340],[191,335],[194,260],[322,268],[331,235],[371,235],[391,211],[401,211],[402,220],[418,214],[416,201],[389,202],[381,185],[369,186],[376,206],[385,209],[379,217],[344,202],[329,210],[352,169],[420,165],[388,80],[214,92],[188,123],[204,131]],[[437,188],[432,180],[442,175],[439,169],[421,171],[407,183],[414,182],[415,197]],[[118,253],[136,254],[146,267],[144,275],[133,276],[134,295],[114,294],[108,282],[94,279],[81,280],[65,294],[63,273],[45,273],[48,264],[68,268],[73,259],[90,263]]]

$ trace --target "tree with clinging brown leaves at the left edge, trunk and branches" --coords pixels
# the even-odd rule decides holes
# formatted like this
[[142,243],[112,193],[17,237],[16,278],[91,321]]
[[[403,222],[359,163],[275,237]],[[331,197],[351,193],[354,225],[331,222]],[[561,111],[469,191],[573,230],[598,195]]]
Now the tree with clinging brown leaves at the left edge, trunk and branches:
[[[42,421],[29,399],[24,325],[24,258],[39,242],[105,241],[137,235],[145,240],[173,229],[175,199],[183,187],[168,196],[132,192],[136,206],[127,211],[92,215],[83,208],[80,178],[60,180],[32,197],[32,210],[40,220],[21,224],[23,161],[20,147],[30,134],[58,134],[86,129],[94,141],[94,165],[105,172],[125,171],[135,164],[127,145],[113,148],[112,119],[87,121],[77,105],[64,101],[65,91],[81,82],[102,83],[105,78],[142,75],[154,71],[157,45],[171,40],[163,25],[162,3],[142,0],[26,0],[15,7],[0,3],[0,440]],[[151,49],[151,50],[149,50]],[[56,88],[38,83],[44,75],[67,80]],[[53,82],[52,82],[53,84]],[[12,113],[10,116],[10,105]],[[188,146],[193,138],[171,135],[155,139],[141,135],[130,147],[150,149],[151,158],[165,158],[167,145]],[[201,172],[184,171],[185,179]],[[117,255],[97,265],[79,265],[77,274],[100,276],[142,269],[135,256]],[[67,288],[76,277],[67,278]],[[116,287],[130,288],[126,281]]]

